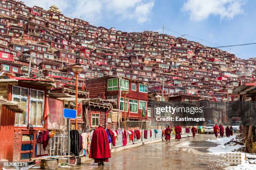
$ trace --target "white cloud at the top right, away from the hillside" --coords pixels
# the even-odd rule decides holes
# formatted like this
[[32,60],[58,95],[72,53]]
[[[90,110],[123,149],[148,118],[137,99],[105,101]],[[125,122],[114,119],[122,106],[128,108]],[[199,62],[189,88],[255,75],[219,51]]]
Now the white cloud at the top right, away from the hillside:
[[195,21],[205,20],[210,15],[219,15],[221,19],[232,19],[243,14],[241,0],[187,0],[182,11],[190,13],[190,19]]

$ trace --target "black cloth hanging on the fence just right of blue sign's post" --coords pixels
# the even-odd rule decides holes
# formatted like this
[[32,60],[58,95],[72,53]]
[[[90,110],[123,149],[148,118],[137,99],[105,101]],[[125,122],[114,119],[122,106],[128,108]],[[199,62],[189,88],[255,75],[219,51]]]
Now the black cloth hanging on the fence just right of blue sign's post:
[[79,146],[79,132],[77,130],[70,130],[70,152],[76,156],[79,156]]

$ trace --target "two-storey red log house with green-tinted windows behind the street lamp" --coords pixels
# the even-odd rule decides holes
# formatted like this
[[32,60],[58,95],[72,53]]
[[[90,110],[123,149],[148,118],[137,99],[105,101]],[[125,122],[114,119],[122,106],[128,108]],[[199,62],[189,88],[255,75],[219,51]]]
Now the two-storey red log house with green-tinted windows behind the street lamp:
[[[125,77],[105,76],[86,80],[86,90],[90,93],[90,98],[101,97],[117,101],[114,109],[119,110],[123,120],[124,110],[126,117],[130,120],[146,120],[147,118],[146,112],[145,117],[142,116],[143,107],[147,110],[148,101],[147,84],[144,82]],[[129,91],[126,95],[125,109],[123,90]]]

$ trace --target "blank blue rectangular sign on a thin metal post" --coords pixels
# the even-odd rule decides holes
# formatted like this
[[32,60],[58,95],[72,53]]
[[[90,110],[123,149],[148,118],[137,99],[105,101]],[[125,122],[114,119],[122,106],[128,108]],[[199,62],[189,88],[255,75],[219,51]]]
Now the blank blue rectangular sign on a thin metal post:
[[[63,117],[67,118],[68,121],[68,155],[70,155],[70,119],[77,118],[77,110],[74,109],[63,109]],[[69,164],[69,158],[68,158]]]

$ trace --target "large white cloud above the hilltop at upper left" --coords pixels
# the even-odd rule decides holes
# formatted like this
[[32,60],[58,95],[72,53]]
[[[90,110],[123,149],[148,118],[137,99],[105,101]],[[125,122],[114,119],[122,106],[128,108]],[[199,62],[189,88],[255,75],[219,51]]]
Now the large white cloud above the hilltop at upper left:
[[145,23],[154,7],[154,0],[25,0],[25,4],[44,7],[46,10],[55,4],[65,15],[81,17],[92,23],[97,23],[105,16]]

